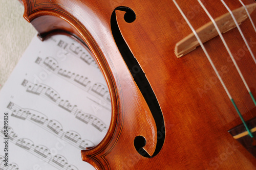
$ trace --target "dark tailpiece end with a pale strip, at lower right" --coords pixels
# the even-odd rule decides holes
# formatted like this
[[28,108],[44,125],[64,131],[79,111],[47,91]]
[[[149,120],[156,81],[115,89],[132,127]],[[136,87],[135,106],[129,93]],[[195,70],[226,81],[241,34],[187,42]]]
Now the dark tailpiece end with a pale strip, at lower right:
[[250,128],[251,133],[253,134],[253,138],[251,138],[248,135],[248,131],[246,131],[244,124],[234,127],[228,132],[233,136],[234,139],[238,140],[243,145],[243,147],[256,158],[256,117],[254,117],[246,123]]

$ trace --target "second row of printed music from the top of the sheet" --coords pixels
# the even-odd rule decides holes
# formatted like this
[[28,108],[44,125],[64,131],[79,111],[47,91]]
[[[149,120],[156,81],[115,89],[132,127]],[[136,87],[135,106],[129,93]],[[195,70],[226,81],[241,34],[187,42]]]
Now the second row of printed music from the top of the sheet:
[[105,85],[101,83],[94,83],[91,85],[92,81],[89,80],[88,77],[75,74],[75,72],[71,72],[67,69],[60,68],[58,66],[58,62],[52,57],[46,57],[44,60],[40,57],[37,57],[35,63],[41,67],[50,69],[50,71],[52,71],[54,74],[65,78],[75,86],[79,85],[78,87],[82,90],[89,92],[100,100],[107,102],[109,105],[111,104],[109,90]]

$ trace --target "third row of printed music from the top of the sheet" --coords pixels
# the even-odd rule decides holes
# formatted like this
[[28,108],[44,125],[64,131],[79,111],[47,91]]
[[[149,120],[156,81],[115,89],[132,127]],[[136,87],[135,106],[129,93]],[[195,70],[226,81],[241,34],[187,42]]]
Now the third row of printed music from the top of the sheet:
[[[60,108],[68,111],[69,113],[75,115],[75,117],[81,120],[85,124],[90,124],[95,127],[100,132],[107,132],[108,127],[106,127],[105,123],[102,122],[98,117],[85,113],[77,108],[76,105],[71,105],[68,100],[62,100],[60,95],[51,87],[47,85],[38,85],[29,82],[28,80],[23,80],[22,86],[26,87],[26,91],[32,94],[36,94],[42,96],[46,99],[50,99],[55,105],[59,106]],[[23,113],[21,115],[16,115],[18,118],[25,119],[26,114]]]

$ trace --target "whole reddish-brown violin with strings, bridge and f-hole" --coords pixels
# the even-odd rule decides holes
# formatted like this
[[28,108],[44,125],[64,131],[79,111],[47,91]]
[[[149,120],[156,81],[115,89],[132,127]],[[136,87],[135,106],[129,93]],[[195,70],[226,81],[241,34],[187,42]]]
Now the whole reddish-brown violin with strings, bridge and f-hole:
[[96,169],[256,169],[255,1],[23,4],[42,40],[66,34],[88,46],[108,83],[111,124],[81,151],[83,161]]

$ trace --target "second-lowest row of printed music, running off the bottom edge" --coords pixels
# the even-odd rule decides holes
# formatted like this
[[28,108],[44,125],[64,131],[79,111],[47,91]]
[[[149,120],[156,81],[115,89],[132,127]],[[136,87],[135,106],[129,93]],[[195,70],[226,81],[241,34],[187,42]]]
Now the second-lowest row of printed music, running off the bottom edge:
[[[11,127],[8,128],[8,132],[10,132],[10,135],[8,135],[8,137],[12,143],[14,143],[18,147],[22,148],[23,150],[29,152],[30,154],[38,157],[39,159],[44,160],[48,164],[56,167],[57,169],[78,170],[78,168],[75,167],[74,165],[69,165],[67,159],[64,156],[52,155],[51,151],[46,146],[41,145],[41,144],[36,145],[36,144],[34,144],[33,141],[31,141],[28,138],[19,138],[18,135],[16,135],[14,133],[14,131]],[[4,128],[1,130],[1,133],[4,134]],[[0,157],[0,159],[1,159],[1,157]],[[15,165],[16,169],[18,169],[18,166],[16,164],[12,164],[12,167],[14,167],[14,165]],[[9,165],[9,167],[11,167],[11,166]],[[12,169],[12,168],[9,168],[9,169]]]

